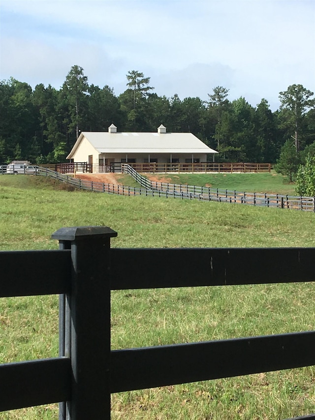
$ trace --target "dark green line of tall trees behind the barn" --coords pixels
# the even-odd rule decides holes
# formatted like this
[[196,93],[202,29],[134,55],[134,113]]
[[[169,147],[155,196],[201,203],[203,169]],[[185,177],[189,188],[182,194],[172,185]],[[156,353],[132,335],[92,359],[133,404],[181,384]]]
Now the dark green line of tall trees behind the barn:
[[217,86],[207,101],[158,96],[150,77],[132,70],[126,91],[116,96],[107,85],[90,85],[78,65],[59,90],[42,83],[33,90],[10,78],[0,82],[0,162],[66,162],[81,131],[107,131],[112,123],[119,131],[156,131],[163,124],[169,132],[191,132],[221,162],[275,163],[287,145],[296,159],[312,145],[315,150],[313,92],[289,86],[275,112],[264,98],[253,107],[244,97],[230,101],[228,93]]

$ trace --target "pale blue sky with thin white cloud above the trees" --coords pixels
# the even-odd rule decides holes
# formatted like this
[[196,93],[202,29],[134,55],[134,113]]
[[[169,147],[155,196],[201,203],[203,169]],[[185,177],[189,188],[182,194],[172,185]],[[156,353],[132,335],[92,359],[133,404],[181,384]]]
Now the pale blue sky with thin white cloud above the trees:
[[229,89],[272,111],[279,92],[315,92],[315,0],[0,0],[0,80],[56,89],[73,65],[88,83],[208,100]]

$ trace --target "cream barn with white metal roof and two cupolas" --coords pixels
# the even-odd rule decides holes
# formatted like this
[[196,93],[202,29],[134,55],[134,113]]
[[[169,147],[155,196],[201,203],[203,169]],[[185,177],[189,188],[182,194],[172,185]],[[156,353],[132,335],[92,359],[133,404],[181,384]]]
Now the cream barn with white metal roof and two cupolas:
[[200,163],[216,153],[192,133],[169,133],[163,125],[157,132],[118,132],[112,124],[108,132],[81,132],[67,159],[100,166],[125,162]]

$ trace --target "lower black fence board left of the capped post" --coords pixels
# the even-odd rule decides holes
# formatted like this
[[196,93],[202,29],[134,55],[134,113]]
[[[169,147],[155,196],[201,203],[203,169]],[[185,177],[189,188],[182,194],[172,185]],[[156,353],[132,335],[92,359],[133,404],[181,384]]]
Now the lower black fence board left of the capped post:
[[71,360],[67,357],[0,365],[0,411],[71,399]]

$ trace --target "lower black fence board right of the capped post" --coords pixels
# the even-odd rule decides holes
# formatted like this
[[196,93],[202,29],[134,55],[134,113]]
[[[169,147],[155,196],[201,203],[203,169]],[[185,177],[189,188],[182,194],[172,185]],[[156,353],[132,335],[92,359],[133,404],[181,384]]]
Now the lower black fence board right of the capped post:
[[315,331],[111,352],[111,392],[315,364]]

